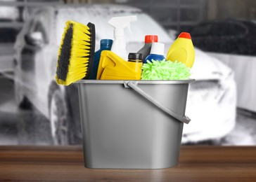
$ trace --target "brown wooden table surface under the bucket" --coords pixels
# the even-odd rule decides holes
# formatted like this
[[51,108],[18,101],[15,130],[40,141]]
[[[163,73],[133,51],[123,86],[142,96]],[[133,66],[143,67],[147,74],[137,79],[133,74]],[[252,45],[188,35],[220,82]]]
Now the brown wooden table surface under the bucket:
[[82,146],[0,146],[0,181],[256,181],[256,147],[181,146],[169,169],[87,169]]

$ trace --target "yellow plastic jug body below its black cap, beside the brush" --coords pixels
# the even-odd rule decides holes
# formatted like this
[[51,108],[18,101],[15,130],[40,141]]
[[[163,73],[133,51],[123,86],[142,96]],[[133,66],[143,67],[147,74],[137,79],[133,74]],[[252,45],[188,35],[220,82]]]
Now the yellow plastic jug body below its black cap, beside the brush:
[[126,62],[110,50],[101,52],[97,80],[140,80],[142,62]]

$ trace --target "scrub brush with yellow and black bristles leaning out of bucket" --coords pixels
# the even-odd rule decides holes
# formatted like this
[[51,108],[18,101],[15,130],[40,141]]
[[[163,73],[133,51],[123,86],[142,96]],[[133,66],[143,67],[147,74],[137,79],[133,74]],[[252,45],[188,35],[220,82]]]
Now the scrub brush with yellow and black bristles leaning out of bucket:
[[94,62],[95,26],[68,21],[58,51],[56,82],[70,85],[88,79]]

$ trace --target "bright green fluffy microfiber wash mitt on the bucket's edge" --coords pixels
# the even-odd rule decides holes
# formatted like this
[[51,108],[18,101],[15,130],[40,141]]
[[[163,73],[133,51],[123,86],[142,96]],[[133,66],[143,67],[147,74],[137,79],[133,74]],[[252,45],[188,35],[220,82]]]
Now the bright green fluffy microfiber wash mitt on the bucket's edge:
[[171,62],[165,59],[161,62],[147,60],[141,69],[141,80],[187,80],[191,75],[190,68],[182,62]]

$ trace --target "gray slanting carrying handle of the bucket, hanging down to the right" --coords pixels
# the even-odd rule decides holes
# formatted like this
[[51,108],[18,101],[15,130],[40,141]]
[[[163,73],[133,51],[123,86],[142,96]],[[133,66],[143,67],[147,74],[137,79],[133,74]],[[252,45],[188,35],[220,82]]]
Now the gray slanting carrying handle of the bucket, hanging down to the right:
[[135,90],[136,92],[141,94],[143,97],[148,99],[148,101],[155,104],[155,106],[158,106],[158,108],[162,109],[162,111],[165,111],[165,113],[167,113],[170,116],[172,116],[173,118],[176,118],[177,120],[181,121],[181,123],[188,124],[191,121],[191,119],[189,119],[188,116],[186,116],[186,115],[185,116],[180,116],[179,114],[175,113],[174,111],[169,109],[167,106],[165,106],[164,104],[162,104],[158,100],[154,99],[151,95],[149,95],[146,92],[144,92],[143,90],[141,90],[141,88],[139,88],[136,84],[134,84],[130,81],[129,82],[124,82],[124,87],[127,87],[127,85],[128,85],[128,87],[131,87],[133,90]]

